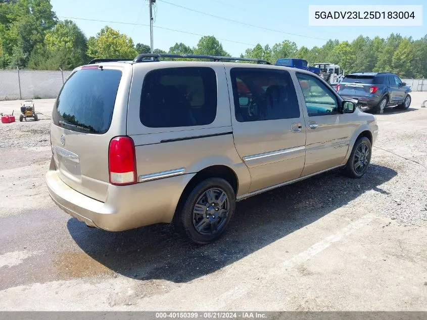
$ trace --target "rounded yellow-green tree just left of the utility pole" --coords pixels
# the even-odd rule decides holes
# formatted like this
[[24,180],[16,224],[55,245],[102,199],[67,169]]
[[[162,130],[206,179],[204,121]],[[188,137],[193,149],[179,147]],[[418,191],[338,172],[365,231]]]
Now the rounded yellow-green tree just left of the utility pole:
[[90,58],[131,59],[137,54],[132,38],[109,26],[87,40],[87,55]]

